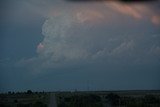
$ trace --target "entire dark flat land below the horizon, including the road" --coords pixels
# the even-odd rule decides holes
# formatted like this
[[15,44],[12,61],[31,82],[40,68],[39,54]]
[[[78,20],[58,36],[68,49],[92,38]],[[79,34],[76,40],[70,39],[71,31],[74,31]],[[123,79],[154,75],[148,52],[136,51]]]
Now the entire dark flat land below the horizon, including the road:
[[160,107],[160,91],[7,93],[0,107]]

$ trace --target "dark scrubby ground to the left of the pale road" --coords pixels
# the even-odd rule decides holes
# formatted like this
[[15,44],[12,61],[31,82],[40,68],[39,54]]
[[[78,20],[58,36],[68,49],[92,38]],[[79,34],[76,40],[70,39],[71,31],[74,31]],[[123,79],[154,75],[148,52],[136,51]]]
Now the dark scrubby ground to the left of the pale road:
[[8,92],[0,94],[0,107],[48,107],[49,93],[44,92]]

